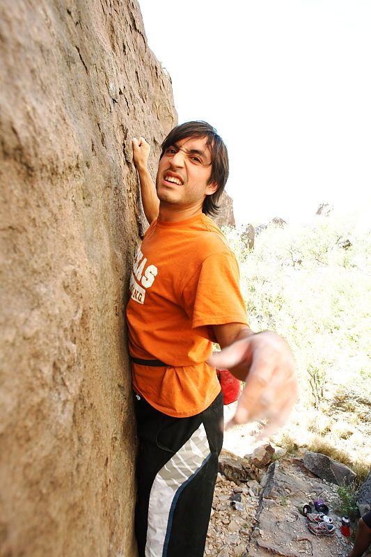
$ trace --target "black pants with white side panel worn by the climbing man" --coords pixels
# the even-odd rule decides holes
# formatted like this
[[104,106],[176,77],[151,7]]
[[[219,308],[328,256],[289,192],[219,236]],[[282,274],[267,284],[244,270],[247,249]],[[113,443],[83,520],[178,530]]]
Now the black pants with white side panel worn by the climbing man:
[[203,557],[223,444],[223,397],[190,418],[166,416],[143,398],[135,407],[139,557]]

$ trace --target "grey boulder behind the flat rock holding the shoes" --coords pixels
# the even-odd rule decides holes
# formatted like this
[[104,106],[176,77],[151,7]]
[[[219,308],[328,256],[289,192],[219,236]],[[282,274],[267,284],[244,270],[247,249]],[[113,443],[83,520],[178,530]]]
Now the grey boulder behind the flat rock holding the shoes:
[[337,485],[350,485],[356,479],[356,474],[345,464],[340,464],[322,453],[308,451],[303,456],[303,464],[322,480]]

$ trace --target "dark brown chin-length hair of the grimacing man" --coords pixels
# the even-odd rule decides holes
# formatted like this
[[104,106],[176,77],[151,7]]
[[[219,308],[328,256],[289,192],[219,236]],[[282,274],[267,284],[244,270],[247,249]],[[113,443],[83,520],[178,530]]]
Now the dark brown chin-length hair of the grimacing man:
[[207,183],[211,184],[212,182],[216,182],[218,189],[214,191],[214,194],[205,197],[203,202],[203,213],[210,215],[218,214],[218,201],[226,187],[229,173],[227,148],[221,136],[216,133],[214,127],[207,122],[203,122],[203,120],[196,120],[194,122],[180,124],[171,130],[161,145],[161,157],[163,157],[168,147],[175,145],[177,141],[181,141],[186,137],[207,137],[207,146],[210,148],[212,155],[212,173]]

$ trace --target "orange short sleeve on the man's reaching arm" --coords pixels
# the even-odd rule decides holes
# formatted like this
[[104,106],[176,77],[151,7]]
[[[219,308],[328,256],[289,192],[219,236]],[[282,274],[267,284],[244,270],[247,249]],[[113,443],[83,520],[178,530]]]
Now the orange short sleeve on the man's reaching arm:
[[192,329],[213,342],[212,325],[248,324],[239,267],[232,252],[207,257],[184,288],[182,299]]

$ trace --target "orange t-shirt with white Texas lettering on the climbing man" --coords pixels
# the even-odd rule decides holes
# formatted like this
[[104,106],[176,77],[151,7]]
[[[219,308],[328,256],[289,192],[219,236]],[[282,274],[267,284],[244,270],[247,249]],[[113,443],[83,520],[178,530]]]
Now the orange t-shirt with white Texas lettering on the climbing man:
[[247,324],[239,269],[226,238],[205,214],[156,219],[136,253],[127,305],[129,352],[168,366],[133,363],[134,390],[175,417],[194,416],[220,392],[212,325]]

